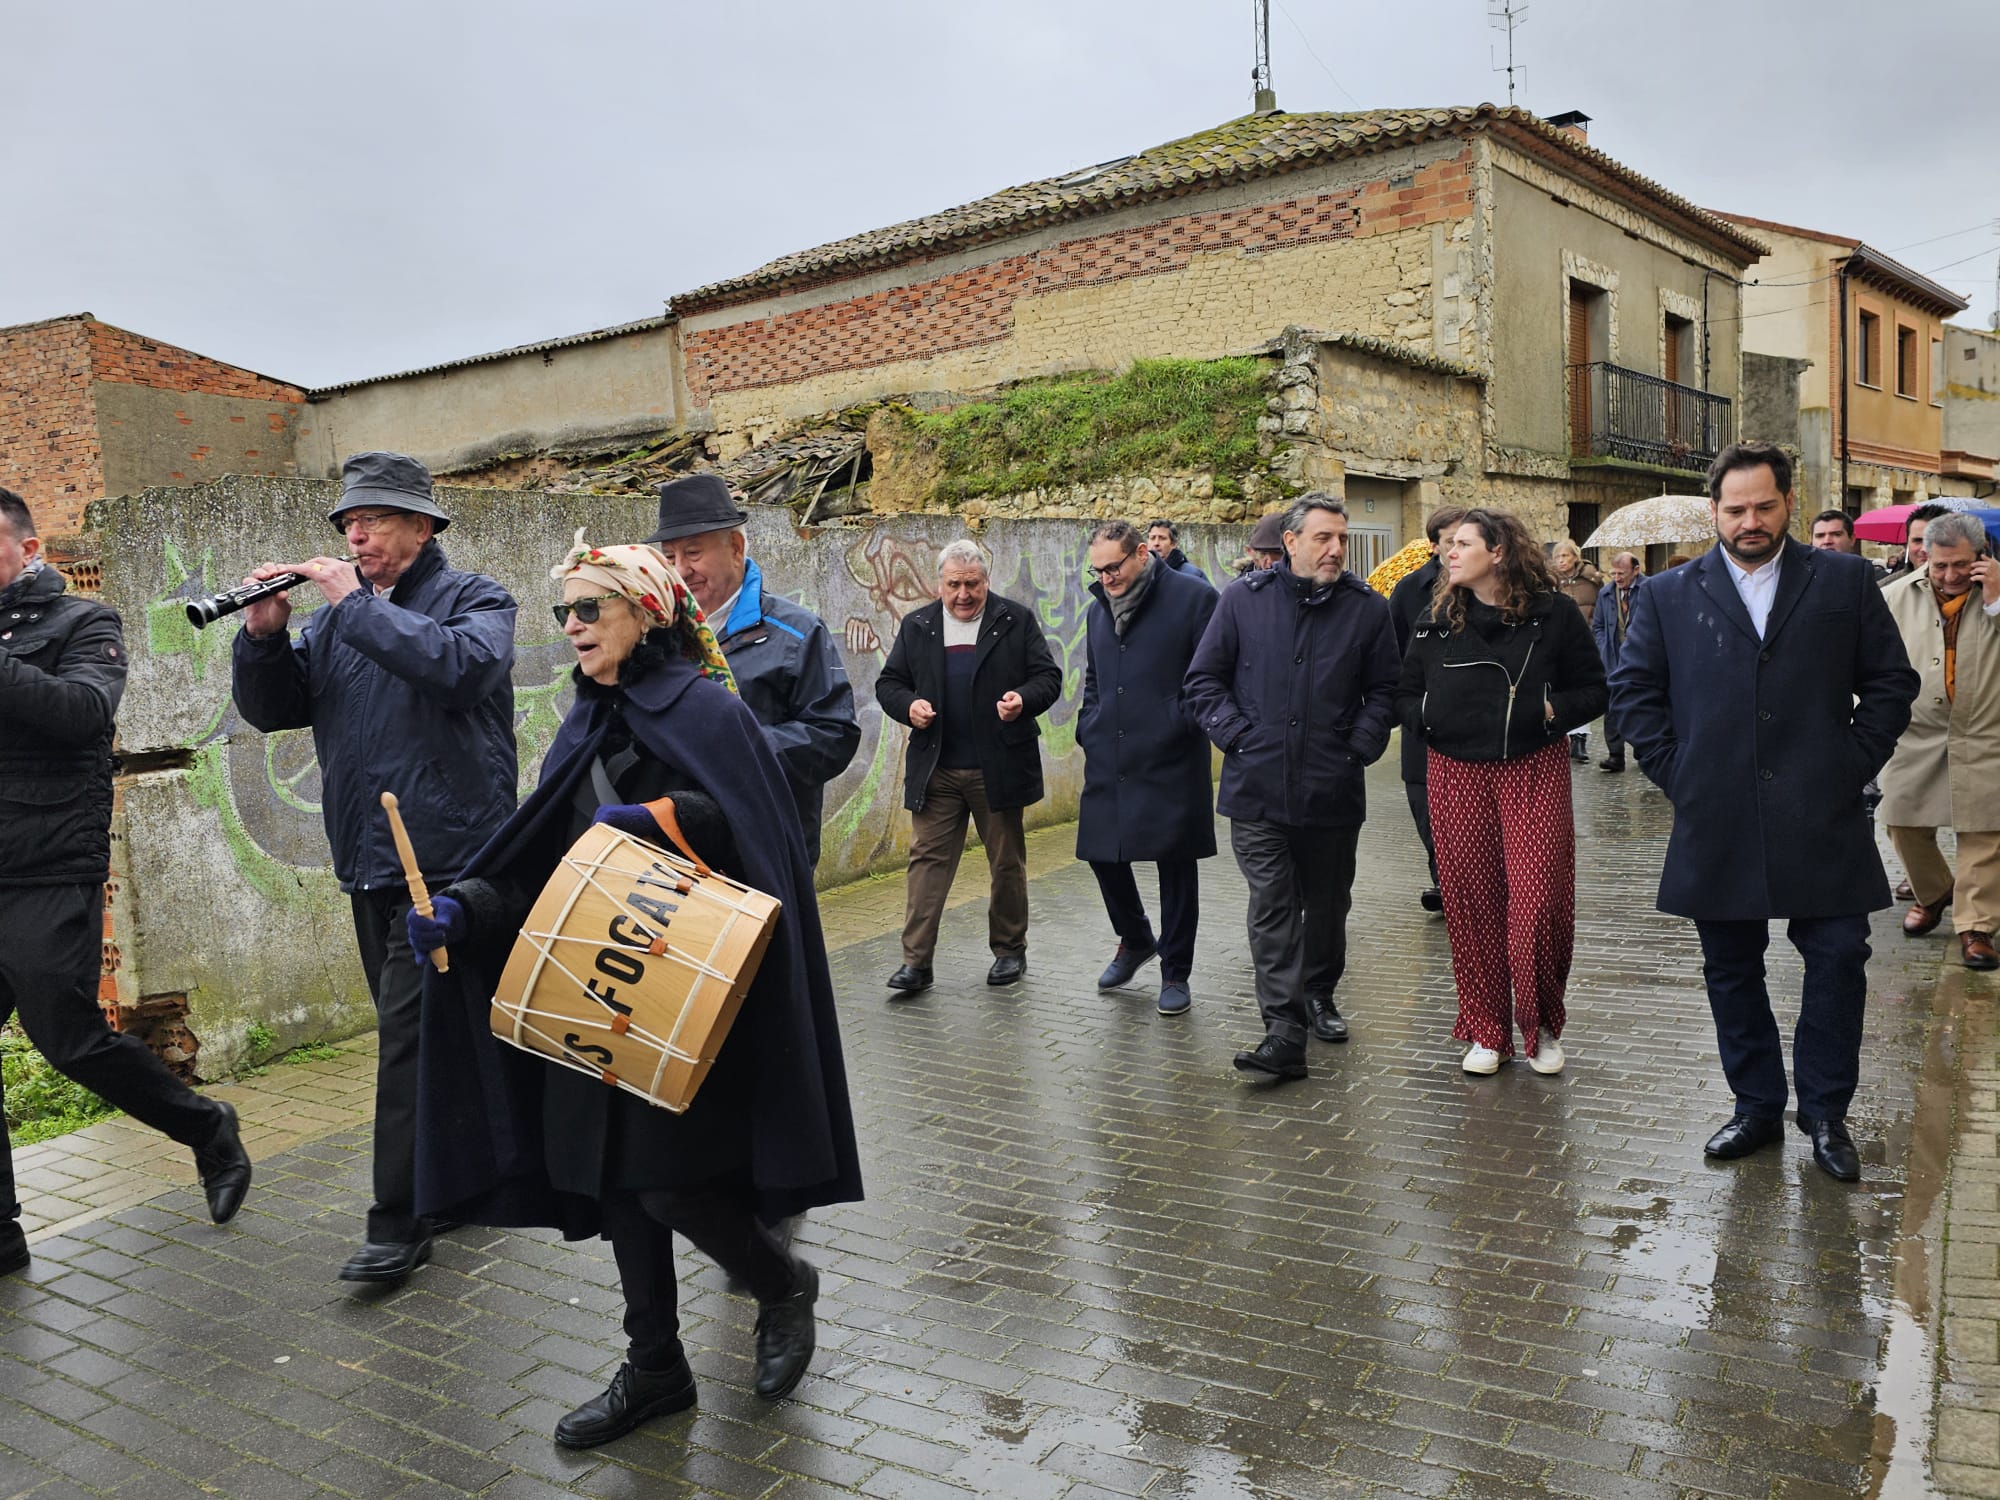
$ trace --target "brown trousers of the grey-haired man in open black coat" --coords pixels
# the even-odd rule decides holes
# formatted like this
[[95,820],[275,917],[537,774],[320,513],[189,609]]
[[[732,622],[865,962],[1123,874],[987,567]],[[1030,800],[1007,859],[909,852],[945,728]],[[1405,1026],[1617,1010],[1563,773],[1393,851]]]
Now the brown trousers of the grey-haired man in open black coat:
[[966,852],[966,818],[980,830],[992,894],[986,902],[986,940],[994,958],[1028,952],[1028,842],[1020,808],[986,806],[986,778],[976,770],[930,774],[924,806],[910,818],[908,908],[902,924],[902,962],[930,968],[938,948],[938,922],[952,894],[958,856]]

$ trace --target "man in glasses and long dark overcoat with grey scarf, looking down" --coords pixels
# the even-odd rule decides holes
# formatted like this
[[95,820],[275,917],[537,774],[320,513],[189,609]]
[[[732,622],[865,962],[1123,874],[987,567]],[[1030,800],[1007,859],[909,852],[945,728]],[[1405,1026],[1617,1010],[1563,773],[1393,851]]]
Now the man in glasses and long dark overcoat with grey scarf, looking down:
[[[1216,612],[1216,590],[1162,564],[1136,526],[1108,520],[1090,534],[1084,706],[1084,796],[1076,858],[1090,864],[1118,952],[1100,990],[1130,982],[1160,956],[1160,1014],[1188,1010],[1200,868],[1216,852],[1208,736],[1188,708],[1182,678]],[[1132,878],[1134,862],[1160,872],[1160,934]]]

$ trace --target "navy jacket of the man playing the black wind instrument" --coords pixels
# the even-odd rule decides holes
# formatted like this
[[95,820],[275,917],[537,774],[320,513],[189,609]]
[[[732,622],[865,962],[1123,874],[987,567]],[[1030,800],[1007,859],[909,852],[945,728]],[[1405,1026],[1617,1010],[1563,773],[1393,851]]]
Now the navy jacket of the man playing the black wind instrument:
[[514,598],[430,542],[386,596],[364,582],[296,640],[236,634],[236,712],[312,728],[320,814],[342,890],[402,886],[382,792],[394,792],[424,882],[454,880],[514,812]]

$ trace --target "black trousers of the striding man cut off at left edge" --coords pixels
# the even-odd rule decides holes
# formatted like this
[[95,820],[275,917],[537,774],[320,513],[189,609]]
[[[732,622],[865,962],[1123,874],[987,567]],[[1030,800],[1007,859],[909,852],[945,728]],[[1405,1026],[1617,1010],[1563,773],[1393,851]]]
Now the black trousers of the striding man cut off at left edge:
[[[0,1020],[64,1078],[182,1146],[206,1146],[220,1110],[174,1078],[152,1048],[114,1032],[98,1006],[104,886],[12,886],[0,894]],[[4,1130],[4,1116],[0,1116]],[[0,1156],[0,1220],[20,1216],[12,1150]]]

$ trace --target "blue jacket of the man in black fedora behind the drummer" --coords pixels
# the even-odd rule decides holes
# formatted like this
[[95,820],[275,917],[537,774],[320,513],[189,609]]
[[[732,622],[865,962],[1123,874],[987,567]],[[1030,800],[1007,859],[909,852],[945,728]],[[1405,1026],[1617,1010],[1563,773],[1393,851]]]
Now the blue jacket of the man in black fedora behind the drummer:
[[716,630],[716,644],[736,674],[736,692],[784,766],[806,832],[806,858],[818,864],[824,786],[848,768],[862,742],[840,648],[812,610],[764,592],[764,570],[754,558],[744,564],[742,592]]

